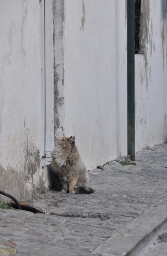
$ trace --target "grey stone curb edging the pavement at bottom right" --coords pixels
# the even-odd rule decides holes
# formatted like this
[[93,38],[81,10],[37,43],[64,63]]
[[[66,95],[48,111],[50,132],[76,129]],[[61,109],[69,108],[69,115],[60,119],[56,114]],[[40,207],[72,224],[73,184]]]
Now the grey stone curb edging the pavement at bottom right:
[[144,255],[166,225],[167,200],[162,198],[99,245],[90,256]]

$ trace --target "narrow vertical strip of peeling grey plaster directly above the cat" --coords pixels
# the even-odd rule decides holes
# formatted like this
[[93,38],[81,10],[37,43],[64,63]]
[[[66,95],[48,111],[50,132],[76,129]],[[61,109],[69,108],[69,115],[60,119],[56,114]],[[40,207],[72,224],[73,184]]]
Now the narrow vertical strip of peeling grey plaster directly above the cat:
[[64,130],[64,1],[53,1],[54,44],[54,137]]

